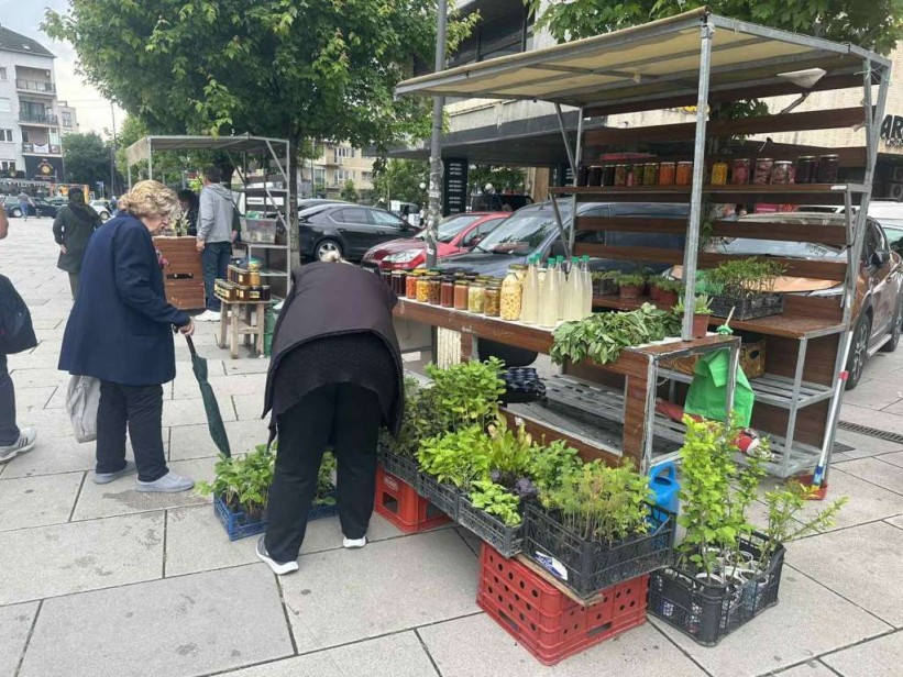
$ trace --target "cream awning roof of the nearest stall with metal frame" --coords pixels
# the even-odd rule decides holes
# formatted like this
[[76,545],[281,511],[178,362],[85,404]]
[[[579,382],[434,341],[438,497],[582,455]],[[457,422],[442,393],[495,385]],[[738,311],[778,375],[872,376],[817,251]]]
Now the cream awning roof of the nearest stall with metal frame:
[[[811,89],[862,86],[862,62],[888,66],[849,44],[727,19],[698,9],[544,49],[405,80],[399,95],[536,99],[584,107],[587,115],[695,104],[701,26],[714,29],[711,98],[805,91],[785,74],[822,68]],[[783,74],[783,75],[782,75]]]

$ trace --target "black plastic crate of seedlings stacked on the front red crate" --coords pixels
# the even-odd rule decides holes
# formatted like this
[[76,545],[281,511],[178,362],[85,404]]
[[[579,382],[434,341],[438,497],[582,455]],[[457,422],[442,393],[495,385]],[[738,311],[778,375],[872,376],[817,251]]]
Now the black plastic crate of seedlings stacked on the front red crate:
[[566,578],[552,569],[550,573],[577,596],[590,598],[624,580],[673,564],[676,515],[658,506],[650,504],[649,509],[649,533],[606,545],[569,531],[555,511],[528,503],[524,514],[524,552],[546,568],[549,567],[543,555],[557,559],[566,570]]

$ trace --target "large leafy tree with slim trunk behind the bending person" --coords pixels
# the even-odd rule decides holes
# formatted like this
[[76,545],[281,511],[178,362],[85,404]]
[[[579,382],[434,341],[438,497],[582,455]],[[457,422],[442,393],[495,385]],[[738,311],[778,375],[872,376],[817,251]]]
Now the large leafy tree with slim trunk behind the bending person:
[[[250,132],[357,147],[429,130],[429,101],[394,97],[434,45],[436,0],[73,0],[44,30],[155,132]],[[454,48],[472,20],[451,21]],[[297,199],[293,153],[290,203]],[[297,219],[290,210],[293,223]],[[295,263],[297,233],[289,230]]]

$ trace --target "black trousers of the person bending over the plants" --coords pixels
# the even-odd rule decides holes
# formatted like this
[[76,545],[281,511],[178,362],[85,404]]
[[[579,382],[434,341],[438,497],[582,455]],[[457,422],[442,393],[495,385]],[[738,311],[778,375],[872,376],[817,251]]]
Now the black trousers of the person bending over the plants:
[[376,441],[383,410],[372,390],[352,384],[318,388],[276,419],[279,451],[267,504],[266,551],[298,558],[323,452],[335,454],[339,521],[349,539],[367,532],[376,492]]

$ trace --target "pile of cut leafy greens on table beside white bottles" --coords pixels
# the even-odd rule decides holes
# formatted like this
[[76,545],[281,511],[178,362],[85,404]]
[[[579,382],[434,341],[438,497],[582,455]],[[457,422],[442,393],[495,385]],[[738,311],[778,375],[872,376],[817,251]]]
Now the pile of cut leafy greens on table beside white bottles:
[[564,322],[552,334],[550,354],[555,364],[588,357],[604,365],[615,362],[625,347],[661,341],[679,332],[680,321],[673,313],[643,303],[630,312],[595,313],[577,322]]

